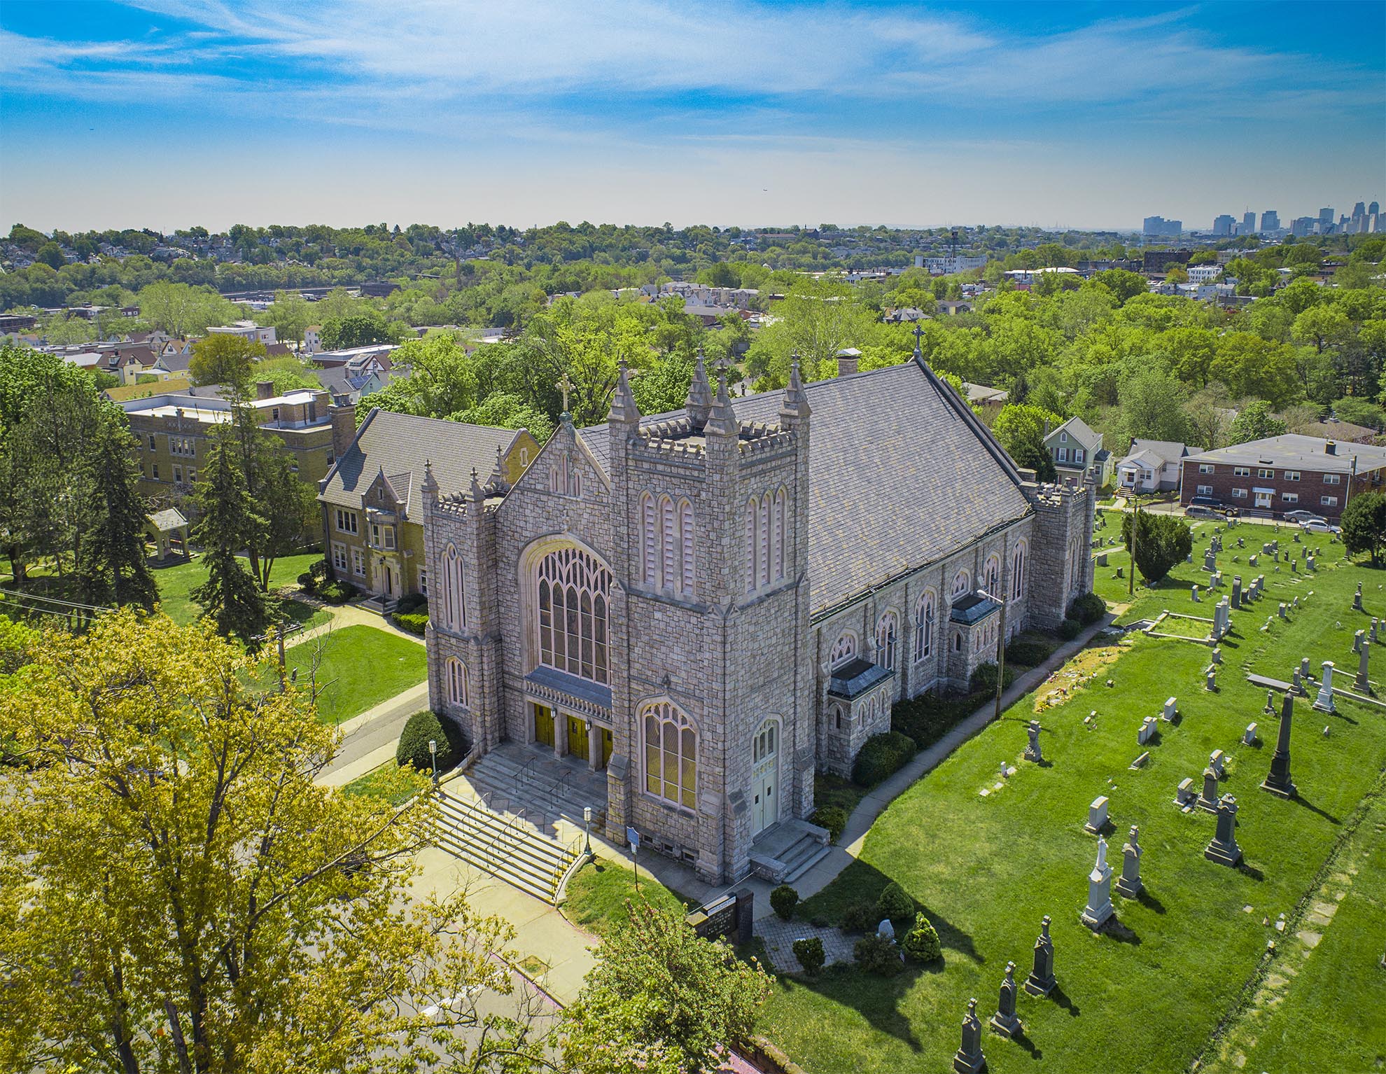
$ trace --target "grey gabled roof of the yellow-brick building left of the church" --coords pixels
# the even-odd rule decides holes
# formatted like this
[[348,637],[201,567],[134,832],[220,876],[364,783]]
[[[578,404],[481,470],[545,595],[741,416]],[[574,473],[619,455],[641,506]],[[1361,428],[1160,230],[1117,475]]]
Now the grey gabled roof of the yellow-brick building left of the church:
[[496,468],[496,448],[507,452],[518,431],[468,425],[434,417],[396,414],[378,407],[366,414],[342,457],[324,478],[319,498],[340,507],[360,509],[360,498],[380,471],[405,499],[405,516],[410,513],[413,498],[424,479],[424,463],[432,461],[434,479],[442,495],[466,492],[471,486],[475,467],[481,482]]

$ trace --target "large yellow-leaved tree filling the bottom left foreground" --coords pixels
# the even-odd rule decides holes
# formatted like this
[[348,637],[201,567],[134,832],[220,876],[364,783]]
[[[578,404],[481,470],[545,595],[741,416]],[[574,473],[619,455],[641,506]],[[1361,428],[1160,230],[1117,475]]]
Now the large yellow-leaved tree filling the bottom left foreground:
[[21,642],[0,1068],[531,1068],[532,1024],[485,1013],[513,988],[509,926],[399,898],[434,807],[316,784],[338,740],[310,689],[262,694],[238,646],[162,617]]

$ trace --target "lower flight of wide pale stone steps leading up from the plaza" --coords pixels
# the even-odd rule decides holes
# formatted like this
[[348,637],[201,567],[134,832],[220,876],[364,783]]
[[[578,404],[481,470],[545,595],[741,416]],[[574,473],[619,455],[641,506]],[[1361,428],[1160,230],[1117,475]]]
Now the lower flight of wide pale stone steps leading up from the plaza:
[[564,847],[518,816],[505,816],[446,789],[439,789],[438,805],[434,838],[439,847],[549,905],[557,901],[559,884],[577,861],[581,843]]

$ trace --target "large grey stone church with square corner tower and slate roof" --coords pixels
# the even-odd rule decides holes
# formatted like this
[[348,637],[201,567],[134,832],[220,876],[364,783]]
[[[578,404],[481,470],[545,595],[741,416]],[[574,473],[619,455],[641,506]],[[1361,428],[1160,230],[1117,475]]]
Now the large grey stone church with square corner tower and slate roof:
[[[626,826],[711,883],[814,808],[890,707],[965,686],[1092,588],[1094,489],[1037,485],[919,356],[606,425],[513,484],[421,484],[432,708],[607,775]],[[1005,608],[1002,610],[1002,601]]]

